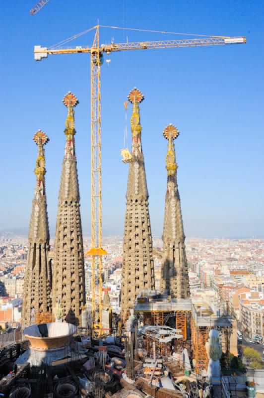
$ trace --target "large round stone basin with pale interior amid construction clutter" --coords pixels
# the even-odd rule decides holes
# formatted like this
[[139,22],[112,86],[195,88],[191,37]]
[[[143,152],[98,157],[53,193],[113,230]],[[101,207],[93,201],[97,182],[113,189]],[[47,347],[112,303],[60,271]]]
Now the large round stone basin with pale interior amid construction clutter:
[[71,323],[50,322],[28,326],[23,334],[29,340],[31,349],[50,350],[66,346],[76,330],[76,326]]

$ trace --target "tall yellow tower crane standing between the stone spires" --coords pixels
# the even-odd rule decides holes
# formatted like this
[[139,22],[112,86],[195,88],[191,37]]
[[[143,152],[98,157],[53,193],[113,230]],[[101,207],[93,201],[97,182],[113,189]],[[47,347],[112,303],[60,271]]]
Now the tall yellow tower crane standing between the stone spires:
[[[102,184],[101,184],[101,77],[100,69],[102,65],[103,53],[110,54],[124,50],[146,50],[158,48],[179,48],[179,47],[198,47],[198,46],[219,46],[224,44],[243,44],[246,37],[228,36],[199,36],[195,38],[180,40],[156,40],[156,41],[137,41],[126,43],[101,44],[99,42],[99,28],[126,29],[133,31],[170,33],[183,35],[175,32],[159,32],[146,29],[120,28],[117,26],[96,25],[84,32],[55,44],[52,47],[34,47],[34,59],[41,61],[52,54],[75,54],[90,53],[91,57],[91,230],[92,243],[91,249],[87,252],[92,256],[92,314],[93,329],[99,334],[102,331],[102,255],[107,252],[102,248]],[[91,47],[71,47],[64,48],[62,45],[80,37],[81,35],[95,30],[93,45]],[[188,34],[185,34],[188,35]]]

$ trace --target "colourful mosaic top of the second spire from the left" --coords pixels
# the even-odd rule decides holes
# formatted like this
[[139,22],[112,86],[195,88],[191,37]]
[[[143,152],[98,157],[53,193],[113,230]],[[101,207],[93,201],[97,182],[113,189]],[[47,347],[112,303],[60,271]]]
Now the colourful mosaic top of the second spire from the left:
[[77,100],[76,96],[69,91],[64,97],[63,103],[68,108],[68,114],[66,118],[66,129],[64,130],[64,133],[66,135],[65,154],[74,156],[75,155],[74,135],[76,134],[76,130],[74,128],[74,122],[75,122],[74,107],[79,103],[79,101]]

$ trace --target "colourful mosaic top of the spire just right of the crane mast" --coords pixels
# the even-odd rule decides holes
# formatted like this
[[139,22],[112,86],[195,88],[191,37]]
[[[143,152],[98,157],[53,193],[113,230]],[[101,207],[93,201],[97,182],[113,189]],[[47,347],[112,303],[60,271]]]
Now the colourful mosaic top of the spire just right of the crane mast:
[[133,113],[131,117],[132,131],[132,154],[137,156],[137,150],[141,153],[141,130],[139,103],[144,100],[143,94],[134,88],[128,95],[128,100],[133,104]]

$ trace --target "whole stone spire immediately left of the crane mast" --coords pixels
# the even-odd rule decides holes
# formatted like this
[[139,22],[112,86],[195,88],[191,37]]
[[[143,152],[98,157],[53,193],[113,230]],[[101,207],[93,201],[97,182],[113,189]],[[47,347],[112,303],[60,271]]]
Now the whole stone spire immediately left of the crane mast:
[[81,307],[85,303],[83,241],[80,217],[80,195],[76,167],[74,107],[77,98],[68,92],[63,99],[68,109],[66,146],[62,166],[59,204],[54,243],[52,307],[60,302],[63,319],[81,323]]

